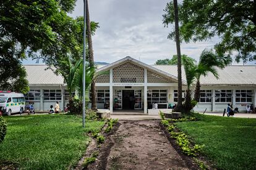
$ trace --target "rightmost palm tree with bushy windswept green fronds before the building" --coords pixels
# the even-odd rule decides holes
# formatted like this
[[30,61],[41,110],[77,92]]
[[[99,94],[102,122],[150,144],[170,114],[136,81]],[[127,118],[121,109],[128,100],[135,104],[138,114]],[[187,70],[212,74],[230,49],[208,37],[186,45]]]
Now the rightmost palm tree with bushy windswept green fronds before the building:
[[197,65],[197,84],[195,85],[195,94],[194,100],[199,102],[200,99],[200,77],[206,76],[207,73],[212,73],[218,79],[218,72],[216,68],[223,69],[226,65],[229,65],[232,62],[232,59],[229,55],[217,55],[212,50],[204,50],[200,55],[200,59]]

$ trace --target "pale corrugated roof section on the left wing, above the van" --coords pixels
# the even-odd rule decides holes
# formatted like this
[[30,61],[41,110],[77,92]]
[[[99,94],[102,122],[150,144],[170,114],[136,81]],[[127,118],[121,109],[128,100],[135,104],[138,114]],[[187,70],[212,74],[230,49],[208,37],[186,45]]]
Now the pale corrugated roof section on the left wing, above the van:
[[57,76],[46,65],[23,65],[27,71],[28,84],[53,85],[64,84],[62,76]]

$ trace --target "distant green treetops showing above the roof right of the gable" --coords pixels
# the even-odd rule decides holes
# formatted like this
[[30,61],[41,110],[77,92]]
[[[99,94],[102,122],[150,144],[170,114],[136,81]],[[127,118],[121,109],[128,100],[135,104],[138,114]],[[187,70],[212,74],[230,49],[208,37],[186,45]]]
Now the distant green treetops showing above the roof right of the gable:
[[[196,63],[197,61],[187,55],[181,55],[181,64],[184,65],[184,60],[189,63]],[[177,55],[173,55],[172,59],[157,60],[156,65],[177,65]]]

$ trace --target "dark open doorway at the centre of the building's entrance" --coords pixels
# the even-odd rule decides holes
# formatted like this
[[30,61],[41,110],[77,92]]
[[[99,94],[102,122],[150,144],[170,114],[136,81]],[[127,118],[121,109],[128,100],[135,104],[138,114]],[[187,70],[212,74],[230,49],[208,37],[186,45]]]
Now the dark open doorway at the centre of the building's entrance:
[[123,90],[122,91],[122,109],[134,110],[135,97],[134,90]]

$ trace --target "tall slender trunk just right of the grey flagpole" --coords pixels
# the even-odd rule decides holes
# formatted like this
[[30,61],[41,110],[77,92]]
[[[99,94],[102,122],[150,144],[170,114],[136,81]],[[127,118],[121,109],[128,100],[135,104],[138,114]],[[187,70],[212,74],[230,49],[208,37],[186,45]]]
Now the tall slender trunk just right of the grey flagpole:
[[[90,67],[94,67],[92,33],[91,33],[91,25],[90,25],[88,0],[86,0],[86,27],[87,27],[86,34],[87,34],[87,41],[88,41],[89,64],[90,64]],[[97,110],[95,92],[96,92],[95,91],[95,81],[92,81],[92,84],[91,84],[92,110]]]

